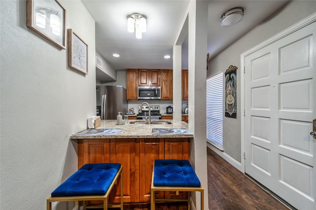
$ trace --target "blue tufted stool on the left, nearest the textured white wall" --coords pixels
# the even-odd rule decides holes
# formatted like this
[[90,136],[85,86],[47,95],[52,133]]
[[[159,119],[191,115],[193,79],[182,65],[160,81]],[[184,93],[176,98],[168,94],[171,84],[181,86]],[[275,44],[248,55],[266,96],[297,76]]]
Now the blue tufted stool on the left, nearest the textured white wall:
[[[103,209],[108,209],[108,197],[120,177],[120,205],[111,205],[112,208],[123,210],[123,166],[119,163],[85,164],[62,184],[60,184],[47,199],[47,210],[51,210],[52,202],[102,200]],[[109,205],[110,207],[110,205]]]

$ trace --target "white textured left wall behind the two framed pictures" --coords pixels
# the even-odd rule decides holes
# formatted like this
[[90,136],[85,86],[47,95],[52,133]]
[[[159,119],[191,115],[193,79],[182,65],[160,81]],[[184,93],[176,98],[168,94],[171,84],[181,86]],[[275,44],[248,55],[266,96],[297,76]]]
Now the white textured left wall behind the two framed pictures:
[[[89,74],[68,67],[61,50],[26,27],[26,1],[1,0],[0,209],[43,210],[77,170],[69,139],[95,115],[95,23],[80,0],[60,0],[67,26],[88,44]],[[74,203],[59,204],[71,210]],[[55,208],[56,205],[53,205]]]

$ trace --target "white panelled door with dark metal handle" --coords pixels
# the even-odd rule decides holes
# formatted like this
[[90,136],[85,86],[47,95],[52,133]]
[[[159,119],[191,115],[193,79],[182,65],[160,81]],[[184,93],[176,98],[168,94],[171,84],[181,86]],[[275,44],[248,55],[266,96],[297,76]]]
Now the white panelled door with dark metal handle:
[[245,173],[315,210],[316,23],[245,57]]

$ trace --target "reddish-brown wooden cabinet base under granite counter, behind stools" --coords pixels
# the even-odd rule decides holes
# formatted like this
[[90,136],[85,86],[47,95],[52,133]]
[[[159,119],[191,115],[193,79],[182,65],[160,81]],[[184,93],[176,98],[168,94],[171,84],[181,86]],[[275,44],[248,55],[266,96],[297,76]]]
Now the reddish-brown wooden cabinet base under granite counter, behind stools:
[[[78,168],[87,163],[120,163],[123,165],[124,203],[150,202],[155,159],[190,160],[190,138],[79,139]],[[157,198],[185,198],[186,194],[157,192]],[[112,190],[109,202],[119,203],[120,180]],[[102,203],[102,202],[101,202]],[[99,204],[93,202],[90,204]]]

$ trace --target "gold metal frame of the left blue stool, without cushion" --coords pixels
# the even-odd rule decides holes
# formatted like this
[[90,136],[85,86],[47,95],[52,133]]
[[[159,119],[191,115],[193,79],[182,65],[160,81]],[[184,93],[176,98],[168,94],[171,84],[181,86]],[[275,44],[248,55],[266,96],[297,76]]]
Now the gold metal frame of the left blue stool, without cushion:
[[[111,193],[111,190],[115,184],[118,182],[118,177],[120,177],[120,204],[116,205],[108,205],[108,197]],[[112,183],[109,186],[108,191],[105,195],[93,195],[93,196],[71,196],[71,197],[49,197],[47,198],[47,210],[51,210],[51,203],[52,202],[62,202],[62,201],[75,201],[76,205],[79,205],[79,201],[83,201],[83,210],[90,209],[85,207],[85,201],[96,201],[102,200],[103,201],[103,210],[108,210],[108,208],[120,208],[123,210],[123,166],[120,166],[118,169],[117,175],[114,177]],[[97,207],[96,207],[97,208]],[[100,207],[98,207],[100,208]]]

